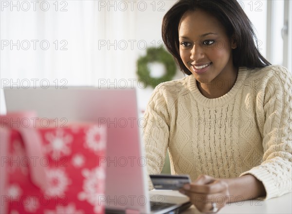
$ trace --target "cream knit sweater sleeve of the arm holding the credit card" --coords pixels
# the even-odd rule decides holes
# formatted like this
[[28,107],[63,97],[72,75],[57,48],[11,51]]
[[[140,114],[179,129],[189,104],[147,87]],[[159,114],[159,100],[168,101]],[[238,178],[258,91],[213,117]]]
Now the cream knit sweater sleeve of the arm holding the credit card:
[[[256,108],[263,112],[263,162],[242,173],[260,180],[269,199],[292,189],[292,78],[283,67],[273,67]],[[260,107],[261,106],[261,107]]]

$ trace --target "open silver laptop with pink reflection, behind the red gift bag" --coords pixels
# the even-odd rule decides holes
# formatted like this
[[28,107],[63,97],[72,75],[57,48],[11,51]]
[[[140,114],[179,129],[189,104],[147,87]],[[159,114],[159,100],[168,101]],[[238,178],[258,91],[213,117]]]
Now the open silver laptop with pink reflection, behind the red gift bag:
[[99,198],[107,213],[178,213],[191,205],[186,196],[148,192],[140,143],[145,121],[137,117],[135,89],[4,87],[4,96],[7,112],[34,110],[39,118],[98,122],[108,127],[107,155],[100,162],[107,167],[106,194]]

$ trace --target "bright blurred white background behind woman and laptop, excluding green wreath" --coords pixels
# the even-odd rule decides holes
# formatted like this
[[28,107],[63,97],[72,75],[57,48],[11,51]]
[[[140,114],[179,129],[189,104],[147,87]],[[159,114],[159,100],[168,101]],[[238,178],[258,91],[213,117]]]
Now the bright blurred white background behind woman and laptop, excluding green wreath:
[[[3,87],[135,87],[139,117],[153,91],[137,76],[146,49],[161,49],[162,18],[176,0],[0,1],[0,113]],[[291,66],[291,0],[238,0],[260,52]],[[148,65],[159,78],[165,66]],[[173,79],[183,78],[177,71]]]

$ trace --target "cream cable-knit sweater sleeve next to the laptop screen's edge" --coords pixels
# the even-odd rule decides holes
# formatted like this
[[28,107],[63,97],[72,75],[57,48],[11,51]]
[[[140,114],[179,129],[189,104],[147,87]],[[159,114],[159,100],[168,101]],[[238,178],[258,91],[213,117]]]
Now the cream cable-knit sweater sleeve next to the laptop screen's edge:
[[[147,173],[160,174],[164,166],[169,138],[169,116],[164,88],[158,85],[154,90],[145,111],[144,144],[146,151]],[[153,189],[148,177],[149,190]]]

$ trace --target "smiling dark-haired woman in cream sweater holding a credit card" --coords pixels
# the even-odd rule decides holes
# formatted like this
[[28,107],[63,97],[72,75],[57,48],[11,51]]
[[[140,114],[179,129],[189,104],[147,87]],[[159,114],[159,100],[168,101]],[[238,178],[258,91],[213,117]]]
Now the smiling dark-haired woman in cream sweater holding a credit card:
[[291,192],[291,74],[258,52],[237,1],[180,0],[162,36],[188,76],[159,85],[149,100],[148,174],[161,172],[168,149],[172,174],[192,179],[181,193],[201,212]]

